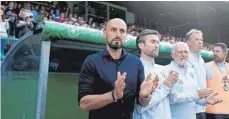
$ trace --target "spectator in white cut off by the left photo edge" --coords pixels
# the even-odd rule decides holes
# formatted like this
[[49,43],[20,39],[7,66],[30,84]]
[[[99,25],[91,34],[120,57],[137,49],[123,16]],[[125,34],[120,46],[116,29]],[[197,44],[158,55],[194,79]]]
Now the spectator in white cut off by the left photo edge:
[[5,18],[4,9],[0,10],[0,38],[8,37],[7,29],[9,28],[9,22]]

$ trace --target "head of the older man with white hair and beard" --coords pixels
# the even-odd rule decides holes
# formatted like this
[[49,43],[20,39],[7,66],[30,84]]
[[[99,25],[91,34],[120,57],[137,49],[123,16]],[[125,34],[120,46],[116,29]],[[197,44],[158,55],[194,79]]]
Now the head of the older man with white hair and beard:
[[188,61],[189,47],[184,42],[177,42],[173,45],[172,58],[179,65],[184,65]]

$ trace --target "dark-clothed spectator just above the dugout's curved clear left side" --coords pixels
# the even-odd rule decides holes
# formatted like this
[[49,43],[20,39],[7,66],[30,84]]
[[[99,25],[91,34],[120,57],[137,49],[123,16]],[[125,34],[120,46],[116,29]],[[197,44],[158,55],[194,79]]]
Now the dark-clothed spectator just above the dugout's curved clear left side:
[[26,16],[26,11],[22,10],[21,15],[19,16],[19,19],[16,21],[16,27],[17,27],[17,34],[16,37],[20,38],[24,34],[26,34],[28,31],[33,29],[33,23],[32,18]]

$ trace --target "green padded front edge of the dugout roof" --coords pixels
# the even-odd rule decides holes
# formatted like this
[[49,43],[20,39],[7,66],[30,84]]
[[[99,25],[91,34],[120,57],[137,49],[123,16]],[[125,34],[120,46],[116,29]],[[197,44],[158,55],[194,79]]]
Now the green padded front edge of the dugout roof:
[[[59,38],[61,40],[77,40],[85,43],[102,45],[106,44],[106,39],[103,37],[102,31],[100,30],[57,23],[53,21],[45,21],[45,34],[43,39],[49,40],[50,38]],[[135,40],[136,37],[128,35],[124,47],[133,50],[136,49]],[[169,54],[171,50],[171,44],[160,43],[160,53]],[[202,50],[201,55],[204,59],[213,59],[212,52],[210,51]]]

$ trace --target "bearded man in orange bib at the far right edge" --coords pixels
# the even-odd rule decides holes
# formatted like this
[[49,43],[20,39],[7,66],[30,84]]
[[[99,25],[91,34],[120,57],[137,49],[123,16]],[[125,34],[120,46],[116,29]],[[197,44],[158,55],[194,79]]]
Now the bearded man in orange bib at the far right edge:
[[218,98],[223,101],[216,105],[207,105],[207,119],[229,119],[229,64],[225,59],[227,56],[227,45],[217,43],[213,47],[214,61],[206,64],[207,88],[214,89],[219,94]]

